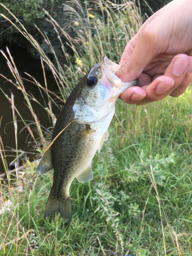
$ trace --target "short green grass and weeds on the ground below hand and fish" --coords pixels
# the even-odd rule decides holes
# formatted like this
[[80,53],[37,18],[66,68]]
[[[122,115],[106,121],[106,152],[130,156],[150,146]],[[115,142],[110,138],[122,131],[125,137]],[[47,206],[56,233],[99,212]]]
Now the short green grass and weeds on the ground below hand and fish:
[[[70,188],[71,222],[59,214],[44,220],[51,174],[36,175],[36,163],[26,167],[20,193],[7,195],[12,211],[1,216],[2,253],[191,255],[190,100],[191,89],[144,106],[118,100],[110,137],[93,161],[94,179]],[[17,245],[15,237],[22,237]]]

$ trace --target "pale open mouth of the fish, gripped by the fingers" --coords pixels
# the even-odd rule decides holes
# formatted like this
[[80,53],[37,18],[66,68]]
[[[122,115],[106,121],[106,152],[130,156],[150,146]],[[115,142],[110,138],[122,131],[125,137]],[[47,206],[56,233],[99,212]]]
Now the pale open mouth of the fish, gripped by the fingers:
[[106,79],[111,83],[112,86],[116,88],[128,88],[131,86],[136,86],[139,79],[135,79],[131,82],[122,82],[120,78],[115,75],[115,72],[120,68],[120,65],[116,64],[108,57],[104,56],[101,61],[101,70],[105,74]]

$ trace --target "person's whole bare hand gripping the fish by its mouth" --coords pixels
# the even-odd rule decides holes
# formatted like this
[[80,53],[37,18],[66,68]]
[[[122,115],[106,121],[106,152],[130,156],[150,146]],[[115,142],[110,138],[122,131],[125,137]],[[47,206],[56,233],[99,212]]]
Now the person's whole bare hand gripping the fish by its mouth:
[[192,80],[192,1],[174,0],[153,14],[129,41],[115,73],[138,86],[120,99],[137,105],[178,97]]

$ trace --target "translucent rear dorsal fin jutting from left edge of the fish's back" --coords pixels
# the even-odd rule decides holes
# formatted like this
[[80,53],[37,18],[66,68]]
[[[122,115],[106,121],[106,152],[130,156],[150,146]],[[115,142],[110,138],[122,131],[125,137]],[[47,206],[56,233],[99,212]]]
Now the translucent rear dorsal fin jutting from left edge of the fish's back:
[[37,168],[37,174],[45,174],[48,170],[53,168],[52,157],[51,157],[51,147],[46,151],[45,155],[40,160],[39,166]]

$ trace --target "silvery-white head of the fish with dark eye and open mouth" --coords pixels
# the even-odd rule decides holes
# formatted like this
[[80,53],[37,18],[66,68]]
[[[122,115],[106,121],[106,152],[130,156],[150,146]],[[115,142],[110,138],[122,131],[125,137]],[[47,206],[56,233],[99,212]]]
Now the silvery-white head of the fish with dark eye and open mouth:
[[122,82],[115,75],[119,68],[106,56],[91,68],[81,83],[80,95],[73,106],[76,120],[87,123],[101,120],[114,109],[116,99],[124,90],[136,86],[138,79]]

